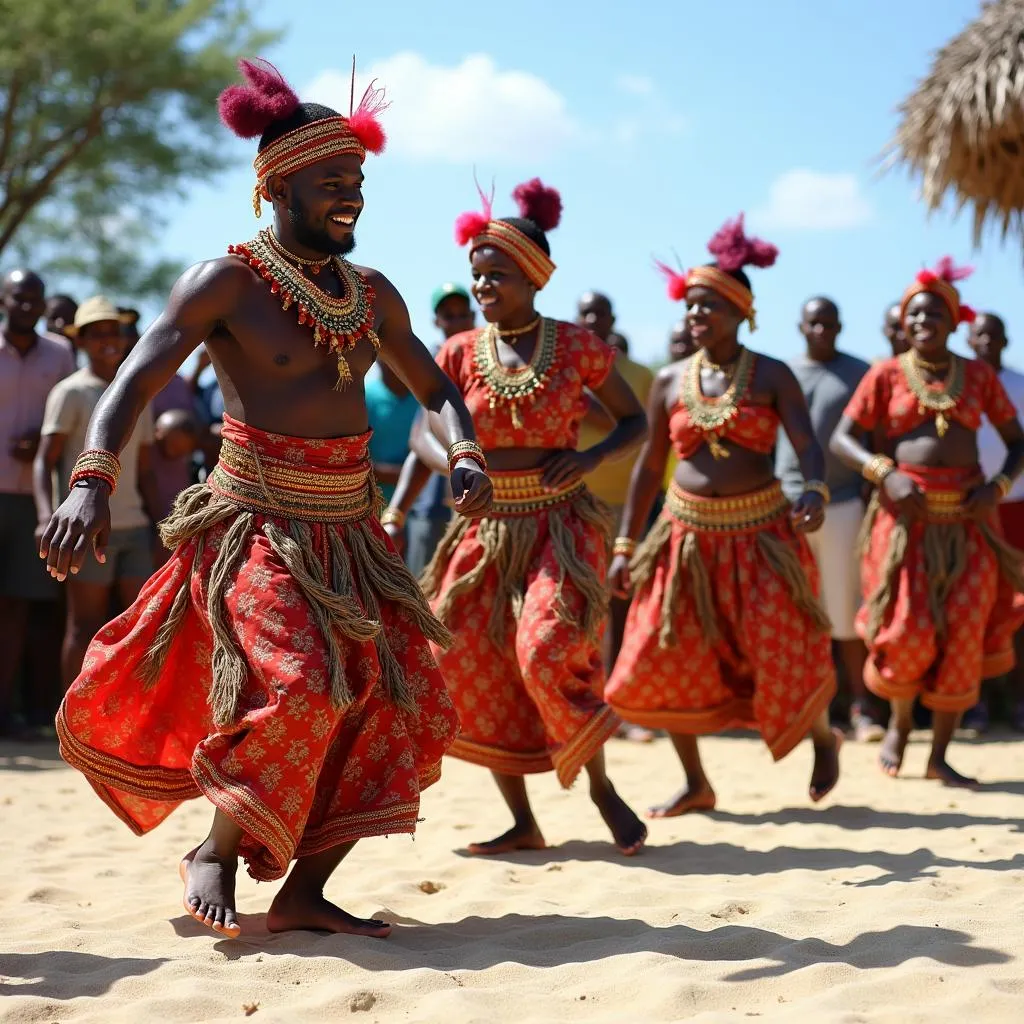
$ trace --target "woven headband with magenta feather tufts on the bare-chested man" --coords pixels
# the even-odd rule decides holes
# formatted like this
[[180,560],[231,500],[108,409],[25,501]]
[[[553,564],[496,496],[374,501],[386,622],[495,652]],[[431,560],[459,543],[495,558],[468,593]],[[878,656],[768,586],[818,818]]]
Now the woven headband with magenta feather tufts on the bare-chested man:
[[371,82],[355,106],[355,59],[352,58],[352,91],[348,116],[321,103],[303,103],[273,65],[256,58],[240,60],[246,85],[229,85],[220,94],[220,120],[241,138],[259,136],[259,152],[253,161],[256,187],[253,210],[258,217],[260,200],[269,201],[267,179],[271,174],[294,174],[343,153],[365,160],[368,153],[382,153],[387,136],[379,115],[389,103],[384,90]]

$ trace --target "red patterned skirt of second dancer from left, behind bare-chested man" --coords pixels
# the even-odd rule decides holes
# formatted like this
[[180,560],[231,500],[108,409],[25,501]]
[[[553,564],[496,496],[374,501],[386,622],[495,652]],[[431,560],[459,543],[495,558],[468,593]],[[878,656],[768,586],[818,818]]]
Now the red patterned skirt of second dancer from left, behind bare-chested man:
[[540,477],[493,473],[490,514],[454,524],[423,584],[455,636],[434,648],[462,721],[449,753],[568,786],[617,727],[600,698],[610,522],[584,484]]

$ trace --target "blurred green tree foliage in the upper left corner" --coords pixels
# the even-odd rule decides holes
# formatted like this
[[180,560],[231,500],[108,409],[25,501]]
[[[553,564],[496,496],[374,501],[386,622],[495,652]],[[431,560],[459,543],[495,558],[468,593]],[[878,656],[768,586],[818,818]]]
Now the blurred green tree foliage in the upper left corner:
[[145,258],[160,208],[221,168],[217,94],[276,38],[249,7],[0,0],[0,261],[166,294],[180,268]]

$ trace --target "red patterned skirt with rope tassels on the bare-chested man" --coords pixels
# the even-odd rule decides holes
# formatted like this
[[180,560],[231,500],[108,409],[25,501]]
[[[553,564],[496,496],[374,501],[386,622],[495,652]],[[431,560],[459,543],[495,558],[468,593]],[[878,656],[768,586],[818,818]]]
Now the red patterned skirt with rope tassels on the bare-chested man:
[[60,752],[134,833],[201,795],[256,879],[416,829],[458,718],[446,642],[382,530],[369,434],[224,420],[221,461],[162,526],[174,549],[93,640]]

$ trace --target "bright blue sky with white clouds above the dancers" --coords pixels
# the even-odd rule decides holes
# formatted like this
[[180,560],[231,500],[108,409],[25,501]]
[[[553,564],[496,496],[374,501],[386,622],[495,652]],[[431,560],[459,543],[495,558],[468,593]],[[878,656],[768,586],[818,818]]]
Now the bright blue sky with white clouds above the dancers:
[[[880,175],[877,161],[897,103],[978,7],[386,0],[329,9],[291,0],[258,16],[285,28],[264,55],[304,99],[342,104],[352,52],[357,94],[369,73],[387,86],[391,142],[368,158],[353,258],[397,285],[430,344],[431,290],[468,284],[452,225],[476,205],[475,166],[481,180],[497,179],[498,215],[513,212],[509,194],[535,174],[561,190],[565,212],[551,236],[558,270],[540,308],[567,317],[581,292],[607,292],[642,360],[663,357],[682,311],[652,256],[675,250],[686,265],[702,262],[711,233],[744,210],[781,250],[774,268],[755,271],[754,347],[796,354],[800,307],[824,293],[841,306],[844,347],[881,354],[887,304],[949,252],[977,267],[965,300],[1007,317],[1020,338],[1009,361],[1024,365],[1020,246],[972,252],[969,218],[928,218],[915,182]],[[168,255],[193,262],[254,233],[253,146],[226,131],[224,146],[232,169],[168,209]]]

